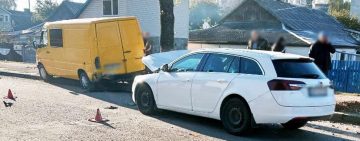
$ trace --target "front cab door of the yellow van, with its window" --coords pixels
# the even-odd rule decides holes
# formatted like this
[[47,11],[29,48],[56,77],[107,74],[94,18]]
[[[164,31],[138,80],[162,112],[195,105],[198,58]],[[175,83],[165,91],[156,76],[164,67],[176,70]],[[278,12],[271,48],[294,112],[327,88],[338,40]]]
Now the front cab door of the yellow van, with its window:
[[40,43],[39,43],[40,48],[37,49],[37,59],[39,62],[41,62],[46,71],[50,74],[52,74],[52,59],[51,59],[51,55],[50,55],[50,46],[48,43],[48,31],[47,30],[43,30],[41,32],[41,37],[40,37]]

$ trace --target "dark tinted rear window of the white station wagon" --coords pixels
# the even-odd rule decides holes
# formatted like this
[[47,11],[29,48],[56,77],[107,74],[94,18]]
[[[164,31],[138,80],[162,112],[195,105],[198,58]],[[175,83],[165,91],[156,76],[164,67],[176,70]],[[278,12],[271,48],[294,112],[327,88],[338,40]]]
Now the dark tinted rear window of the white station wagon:
[[326,76],[311,60],[273,60],[278,77],[324,79]]

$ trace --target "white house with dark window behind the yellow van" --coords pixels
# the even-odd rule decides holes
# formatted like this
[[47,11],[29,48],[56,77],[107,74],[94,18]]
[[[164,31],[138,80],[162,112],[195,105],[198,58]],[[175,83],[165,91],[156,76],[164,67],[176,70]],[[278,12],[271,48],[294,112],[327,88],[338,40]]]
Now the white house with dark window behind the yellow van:
[[[174,0],[175,49],[187,49],[189,38],[189,0]],[[77,18],[135,16],[141,30],[154,40],[154,52],[160,49],[159,0],[87,0]]]

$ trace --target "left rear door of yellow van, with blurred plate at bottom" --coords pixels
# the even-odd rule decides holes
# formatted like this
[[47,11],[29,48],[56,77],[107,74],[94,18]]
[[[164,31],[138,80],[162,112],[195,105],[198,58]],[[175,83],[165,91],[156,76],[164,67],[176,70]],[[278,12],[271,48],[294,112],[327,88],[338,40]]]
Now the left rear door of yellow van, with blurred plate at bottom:
[[102,72],[104,74],[126,73],[118,22],[96,24],[96,38]]

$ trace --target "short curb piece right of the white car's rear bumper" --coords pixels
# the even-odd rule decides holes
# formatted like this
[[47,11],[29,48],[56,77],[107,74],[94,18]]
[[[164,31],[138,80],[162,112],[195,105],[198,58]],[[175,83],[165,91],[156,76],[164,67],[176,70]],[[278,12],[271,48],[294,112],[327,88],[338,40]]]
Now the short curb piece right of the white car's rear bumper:
[[360,114],[335,112],[330,121],[354,123],[360,125]]

